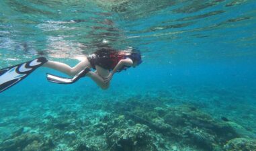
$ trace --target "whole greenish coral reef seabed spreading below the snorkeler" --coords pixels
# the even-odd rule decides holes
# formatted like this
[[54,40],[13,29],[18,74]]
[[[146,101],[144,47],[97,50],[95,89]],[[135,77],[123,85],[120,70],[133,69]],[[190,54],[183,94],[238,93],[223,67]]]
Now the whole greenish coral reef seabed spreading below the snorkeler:
[[[255,132],[169,92],[3,103],[1,151],[256,150]],[[99,99],[101,98],[101,99]],[[47,99],[47,98],[45,98]],[[12,106],[12,107],[10,107]]]

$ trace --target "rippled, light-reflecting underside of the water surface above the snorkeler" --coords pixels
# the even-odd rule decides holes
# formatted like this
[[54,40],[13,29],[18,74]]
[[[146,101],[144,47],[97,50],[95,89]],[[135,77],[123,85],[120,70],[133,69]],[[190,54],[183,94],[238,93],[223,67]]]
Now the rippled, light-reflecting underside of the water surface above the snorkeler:
[[[7,62],[42,54],[74,58],[104,46],[137,47],[149,58],[159,51],[173,58],[174,54],[255,56],[253,1],[14,0],[0,4],[0,57]],[[216,42],[230,50],[212,50]],[[190,44],[209,47],[197,52],[177,48]]]

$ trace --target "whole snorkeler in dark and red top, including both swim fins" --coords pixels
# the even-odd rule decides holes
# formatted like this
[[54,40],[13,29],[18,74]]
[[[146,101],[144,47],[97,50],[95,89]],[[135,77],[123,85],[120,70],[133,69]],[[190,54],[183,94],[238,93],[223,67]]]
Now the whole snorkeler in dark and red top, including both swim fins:
[[[73,78],[58,77],[47,74],[48,81],[52,83],[71,84],[81,77],[90,77],[101,89],[108,89],[110,81],[116,72],[126,70],[130,66],[138,66],[142,62],[140,52],[126,50],[116,51],[110,48],[101,48],[79,62],[73,68],[62,62],[47,60],[39,57],[29,62],[10,66],[0,70],[0,93],[15,85],[28,74],[40,66],[53,68]],[[95,71],[91,71],[91,68]]]

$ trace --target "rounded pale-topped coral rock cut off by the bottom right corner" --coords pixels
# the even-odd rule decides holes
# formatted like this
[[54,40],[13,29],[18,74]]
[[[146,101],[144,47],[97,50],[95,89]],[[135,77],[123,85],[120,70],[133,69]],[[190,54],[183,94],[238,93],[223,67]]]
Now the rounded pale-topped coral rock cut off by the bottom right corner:
[[224,146],[225,151],[254,151],[256,150],[256,140],[250,140],[246,138],[235,138],[228,141]]

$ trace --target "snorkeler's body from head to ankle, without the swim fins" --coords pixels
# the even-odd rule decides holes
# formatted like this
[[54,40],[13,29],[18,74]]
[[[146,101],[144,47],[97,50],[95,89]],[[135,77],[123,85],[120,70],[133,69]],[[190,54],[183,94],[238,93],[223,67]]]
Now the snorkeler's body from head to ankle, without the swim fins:
[[[44,66],[54,68],[73,77],[84,70],[85,77],[90,77],[102,89],[108,89],[110,81],[116,72],[126,70],[130,66],[138,66],[142,62],[140,52],[116,51],[113,49],[102,48],[89,55],[79,62],[76,66],[71,66],[48,60]],[[95,69],[95,72],[89,68]]]

